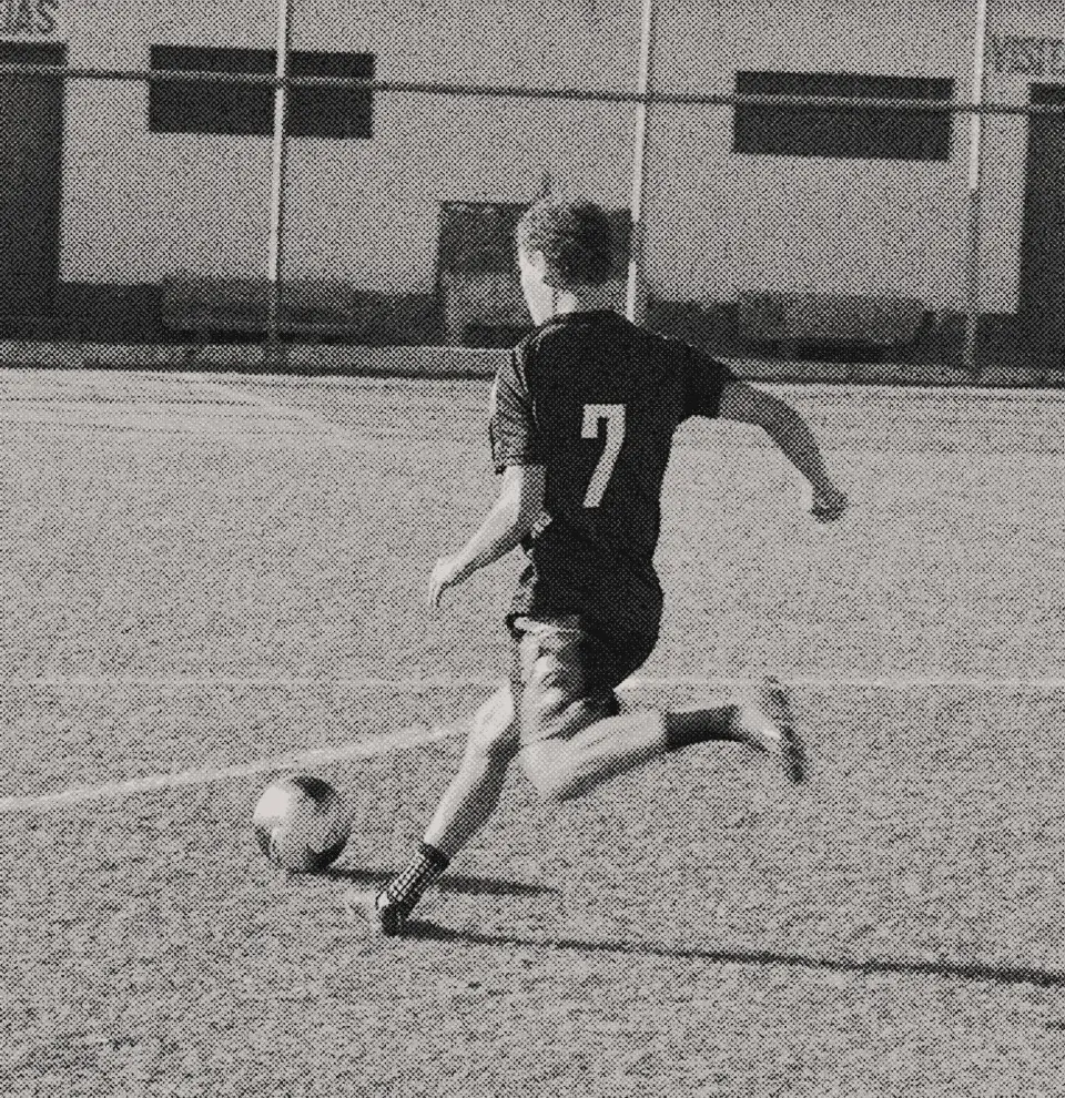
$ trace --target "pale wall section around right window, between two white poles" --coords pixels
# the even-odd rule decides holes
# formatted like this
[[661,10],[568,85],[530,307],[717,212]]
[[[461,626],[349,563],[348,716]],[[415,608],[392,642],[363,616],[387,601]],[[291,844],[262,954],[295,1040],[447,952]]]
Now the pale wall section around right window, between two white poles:
[[[955,0],[662,6],[656,83],[731,92],[738,70],[953,78],[973,37]],[[784,8],[783,11],[781,9]],[[961,303],[966,134],[946,163],[731,154],[732,112],[659,110],[648,194],[652,282],[727,301],[738,291],[846,292]],[[672,284],[672,285],[670,285]]]

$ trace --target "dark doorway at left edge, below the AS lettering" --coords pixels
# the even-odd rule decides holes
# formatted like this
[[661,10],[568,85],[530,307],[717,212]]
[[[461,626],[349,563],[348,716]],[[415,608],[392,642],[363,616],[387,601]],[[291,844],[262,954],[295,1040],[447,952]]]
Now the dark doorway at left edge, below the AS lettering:
[[[0,64],[62,67],[67,48],[0,42]],[[0,316],[41,316],[59,285],[63,81],[0,74]]]

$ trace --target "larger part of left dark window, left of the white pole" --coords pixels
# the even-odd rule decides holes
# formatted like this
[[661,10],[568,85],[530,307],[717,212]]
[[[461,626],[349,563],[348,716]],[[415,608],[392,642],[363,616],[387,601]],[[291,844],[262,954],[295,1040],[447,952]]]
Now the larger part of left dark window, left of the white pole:
[[[272,50],[204,49],[153,45],[153,69],[202,72],[273,73]],[[271,84],[224,84],[168,80],[151,85],[148,125],[152,133],[274,132],[274,89]]]

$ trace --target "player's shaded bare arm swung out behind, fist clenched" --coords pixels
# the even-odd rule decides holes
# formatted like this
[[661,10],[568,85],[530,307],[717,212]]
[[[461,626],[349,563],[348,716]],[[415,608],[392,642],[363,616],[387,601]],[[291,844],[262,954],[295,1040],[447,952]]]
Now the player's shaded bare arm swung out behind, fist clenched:
[[791,405],[743,382],[731,380],[721,390],[722,419],[761,427],[810,485],[810,514],[822,522],[846,510],[846,496],[835,486],[809,425]]

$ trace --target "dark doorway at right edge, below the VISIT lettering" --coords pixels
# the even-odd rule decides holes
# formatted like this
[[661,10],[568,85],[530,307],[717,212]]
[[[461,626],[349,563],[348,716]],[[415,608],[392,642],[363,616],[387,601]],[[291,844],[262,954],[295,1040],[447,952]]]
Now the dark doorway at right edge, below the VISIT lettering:
[[[1034,84],[1031,101],[1065,105],[1065,87]],[[1022,347],[1065,366],[1065,112],[1028,116],[1021,243]]]

